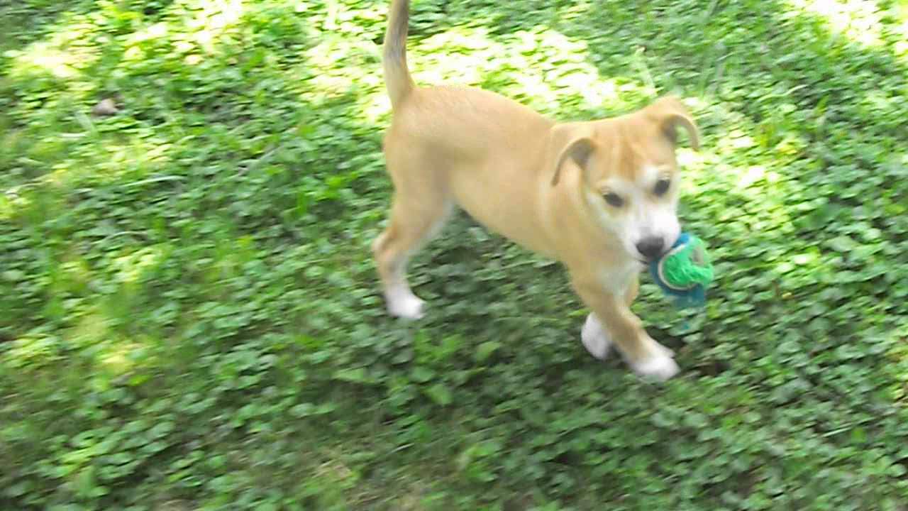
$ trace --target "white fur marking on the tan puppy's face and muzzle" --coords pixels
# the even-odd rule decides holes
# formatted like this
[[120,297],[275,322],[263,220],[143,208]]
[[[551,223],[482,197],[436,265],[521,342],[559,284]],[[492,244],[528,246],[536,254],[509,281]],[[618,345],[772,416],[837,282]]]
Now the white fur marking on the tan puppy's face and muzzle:
[[[672,180],[665,195],[655,194],[656,183],[660,179]],[[613,177],[605,183],[607,188],[620,196],[624,204],[615,208],[606,205],[601,196],[597,200],[602,204],[600,221],[617,238],[631,257],[642,259],[637,244],[646,238],[659,238],[667,250],[681,234],[681,225],[677,219],[678,184],[665,170],[653,165],[646,165],[637,180],[628,181]],[[612,211],[609,211],[611,209]]]

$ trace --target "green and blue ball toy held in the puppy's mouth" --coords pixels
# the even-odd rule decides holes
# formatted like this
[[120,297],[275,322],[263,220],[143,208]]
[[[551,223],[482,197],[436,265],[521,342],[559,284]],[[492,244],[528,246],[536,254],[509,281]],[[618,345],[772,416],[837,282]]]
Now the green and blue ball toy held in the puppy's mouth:
[[706,244],[695,235],[681,233],[671,250],[649,265],[649,273],[678,308],[706,304],[713,265]]

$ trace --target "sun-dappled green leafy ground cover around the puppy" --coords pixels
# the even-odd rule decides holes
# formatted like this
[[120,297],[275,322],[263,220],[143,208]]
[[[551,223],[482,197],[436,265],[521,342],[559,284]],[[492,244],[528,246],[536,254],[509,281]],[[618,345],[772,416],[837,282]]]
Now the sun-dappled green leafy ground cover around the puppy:
[[385,316],[383,0],[0,3],[0,508],[905,509],[908,5],[829,4],[415,2],[423,83],[690,101],[654,385],[463,215]]

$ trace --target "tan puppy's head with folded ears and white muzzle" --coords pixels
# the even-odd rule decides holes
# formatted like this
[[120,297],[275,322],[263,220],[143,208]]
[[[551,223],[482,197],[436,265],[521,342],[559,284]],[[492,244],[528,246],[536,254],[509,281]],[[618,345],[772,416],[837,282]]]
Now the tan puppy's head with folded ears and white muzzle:
[[699,148],[691,115],[675,97],[664,97],[629,115],[553,128],[552,185],[574,167],[589,211],[620,240],[627,255],[648,262],[681,232],[676,210],[679,173],[677,128]]

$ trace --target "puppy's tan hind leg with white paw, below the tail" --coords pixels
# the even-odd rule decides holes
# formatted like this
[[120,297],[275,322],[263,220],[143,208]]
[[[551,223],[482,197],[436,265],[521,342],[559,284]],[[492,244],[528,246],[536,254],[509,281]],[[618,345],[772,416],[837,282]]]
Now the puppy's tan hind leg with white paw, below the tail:
[[391,316],[419,319],[424,302],[414,295],[407,282],[407,263],[422,245],[436,235],[452,209],[449,197],[438,187],[399,187],[391,202],[388,228],[372,243],[382,292]]

